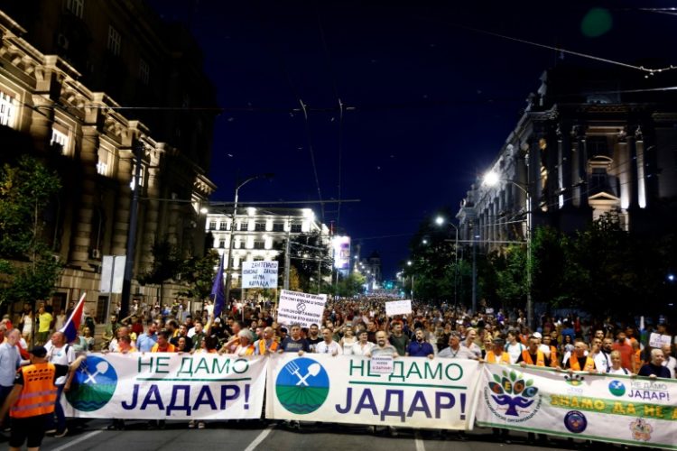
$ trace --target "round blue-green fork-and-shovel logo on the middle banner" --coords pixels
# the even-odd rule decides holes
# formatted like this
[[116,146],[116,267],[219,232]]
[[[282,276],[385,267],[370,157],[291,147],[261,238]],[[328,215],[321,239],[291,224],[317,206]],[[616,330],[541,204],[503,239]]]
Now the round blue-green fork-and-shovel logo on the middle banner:
[[322,365],[312,359],[294,359],[277,375],[275,394],[284,409],[306,415],[320,409],[327,400],[329,376]]

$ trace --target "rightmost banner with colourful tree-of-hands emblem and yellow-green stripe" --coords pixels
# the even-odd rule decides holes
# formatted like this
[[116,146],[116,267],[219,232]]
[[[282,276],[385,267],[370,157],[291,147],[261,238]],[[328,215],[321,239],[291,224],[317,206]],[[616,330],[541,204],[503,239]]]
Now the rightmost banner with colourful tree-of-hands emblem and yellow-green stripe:
[[677,381],[485,364],[477,424],[677,449]]

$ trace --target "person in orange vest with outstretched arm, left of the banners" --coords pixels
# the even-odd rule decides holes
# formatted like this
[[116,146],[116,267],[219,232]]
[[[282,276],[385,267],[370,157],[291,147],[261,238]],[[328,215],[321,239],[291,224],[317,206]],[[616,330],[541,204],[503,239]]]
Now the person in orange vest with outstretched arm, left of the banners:
[[43,346],[33,347],[30,354],[31,364],[16,372],[14,388],[0,409],[0,419],[5,418],[9,410],[11,450],[21,449],[26,440],[29,450],[40,449],[47,422],[54,415],[54,402],[57,399],[54,382],[57,378],[68,375],[64,386],[64,390],[68,391],[73,372],[86,358],[82,355],[70,365],[50,364],[46,358],[47,349]]

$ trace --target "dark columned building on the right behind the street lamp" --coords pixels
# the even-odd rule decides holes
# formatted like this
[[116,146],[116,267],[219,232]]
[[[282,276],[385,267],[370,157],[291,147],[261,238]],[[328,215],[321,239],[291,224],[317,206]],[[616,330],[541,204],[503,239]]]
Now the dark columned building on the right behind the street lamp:
[[677,210],[677,108],[674,94],[654,89],[673,84],[665,78],[544,72],[487,168],[497,183],[478,177],[462,200],[460,238],[496,249],[535,226],[570,233],[605,214],[626,230],[668,231]]

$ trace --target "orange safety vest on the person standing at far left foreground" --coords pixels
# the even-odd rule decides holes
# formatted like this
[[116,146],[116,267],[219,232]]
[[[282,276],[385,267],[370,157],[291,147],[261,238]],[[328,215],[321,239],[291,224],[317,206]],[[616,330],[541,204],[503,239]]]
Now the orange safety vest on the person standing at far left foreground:
[[54,364],[31,364],[19,371],[23,373],[23,390],[9,410],[10,417],[25,419],[52,413],[57,395]]

